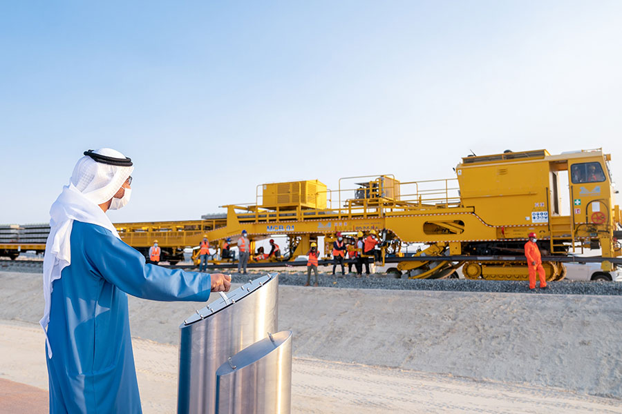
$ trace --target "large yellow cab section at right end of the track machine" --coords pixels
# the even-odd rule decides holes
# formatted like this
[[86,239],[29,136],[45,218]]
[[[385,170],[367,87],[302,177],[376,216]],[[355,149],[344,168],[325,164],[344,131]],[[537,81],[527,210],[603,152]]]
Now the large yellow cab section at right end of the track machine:
[[504,152],[464,157],[456,175],[462,203],[496,226],[497,239],[534,232],[552,254],[600,247],[603,257],[616,257],[622,217],[610,159],[601,149]]

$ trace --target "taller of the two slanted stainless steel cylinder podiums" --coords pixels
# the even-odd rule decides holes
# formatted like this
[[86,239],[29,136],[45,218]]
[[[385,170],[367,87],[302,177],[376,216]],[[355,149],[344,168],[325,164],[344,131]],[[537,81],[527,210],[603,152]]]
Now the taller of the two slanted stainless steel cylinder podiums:
[[261,276],[181,324],[178,413],[216,412],[216,370],[269,332],[276,333],[278,297],[279,275]]

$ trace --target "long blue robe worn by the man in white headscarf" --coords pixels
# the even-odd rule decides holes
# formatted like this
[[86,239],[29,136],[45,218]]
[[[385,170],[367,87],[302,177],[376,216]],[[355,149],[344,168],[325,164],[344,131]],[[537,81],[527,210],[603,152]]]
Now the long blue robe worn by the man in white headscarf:
[[207,301],[211,278],[145,264],[109,230],[80,221],[73,222],[70,248],[71,264],[53,282],[50,413],[141,413],[127,293]]

